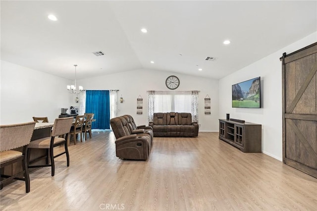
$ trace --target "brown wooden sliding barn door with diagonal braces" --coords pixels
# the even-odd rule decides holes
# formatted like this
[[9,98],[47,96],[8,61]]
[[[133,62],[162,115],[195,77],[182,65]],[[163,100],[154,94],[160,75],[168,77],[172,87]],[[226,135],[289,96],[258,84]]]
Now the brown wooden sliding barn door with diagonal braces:
[[283,162],[317,178],[317,43],[281,60]]

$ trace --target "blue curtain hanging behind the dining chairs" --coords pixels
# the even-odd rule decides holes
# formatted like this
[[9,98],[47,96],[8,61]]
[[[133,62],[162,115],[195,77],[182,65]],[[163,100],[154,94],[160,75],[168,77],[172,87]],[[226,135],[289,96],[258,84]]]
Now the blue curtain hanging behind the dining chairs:
[[110,129],[110,97],[108,90],[86,91],[86,113],[95,113],[92,129]]

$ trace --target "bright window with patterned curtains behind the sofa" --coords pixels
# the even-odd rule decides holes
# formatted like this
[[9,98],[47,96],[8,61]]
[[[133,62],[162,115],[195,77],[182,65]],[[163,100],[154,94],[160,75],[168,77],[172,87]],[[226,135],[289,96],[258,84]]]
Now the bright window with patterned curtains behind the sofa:
[[198,122],[199,91],[148,91],[148,120],[157,112],[188,112],[192,121]]

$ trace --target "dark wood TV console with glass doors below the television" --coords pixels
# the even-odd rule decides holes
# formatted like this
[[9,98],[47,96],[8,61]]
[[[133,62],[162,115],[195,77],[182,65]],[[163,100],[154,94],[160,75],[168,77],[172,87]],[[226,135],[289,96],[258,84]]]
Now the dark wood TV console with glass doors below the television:
[[219,139],[244,153],[262,152],[262,125],[219,119]]

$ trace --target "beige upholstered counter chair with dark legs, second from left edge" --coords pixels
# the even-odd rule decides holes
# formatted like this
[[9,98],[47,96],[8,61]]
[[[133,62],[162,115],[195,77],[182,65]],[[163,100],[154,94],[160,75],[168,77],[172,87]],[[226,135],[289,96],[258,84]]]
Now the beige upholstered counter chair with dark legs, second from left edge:
[[[38,168],[38,167],[46,167],[51,166],[52,168],[52,176],[55,174],[55,163],[54,158],[57,158],[63,154],[66,154],[67,166],[69,166],[69,153],[67,147],[67,138],[69,135],[70,127],[72,126],[74,118],[56,118],[53,125],[52,135],[51,137],[45,137],[38,140],[34,140],[29,144],[29,149],[47,149],[49,151],[49,156],[51,163],[47,159],[47,163],[43,165],[30,165],[30,156],[28,156],[29,168]],[[54,147],[64,145],[64,152],[59,153],[58,155],[53,154]]]

